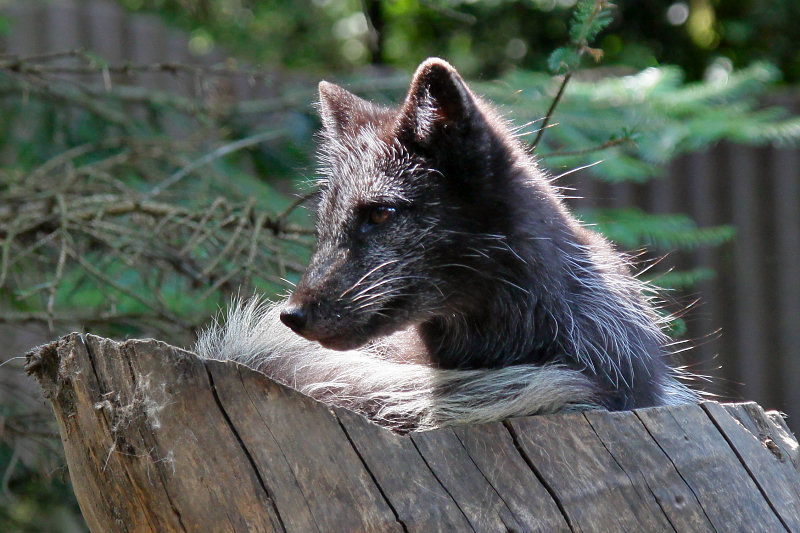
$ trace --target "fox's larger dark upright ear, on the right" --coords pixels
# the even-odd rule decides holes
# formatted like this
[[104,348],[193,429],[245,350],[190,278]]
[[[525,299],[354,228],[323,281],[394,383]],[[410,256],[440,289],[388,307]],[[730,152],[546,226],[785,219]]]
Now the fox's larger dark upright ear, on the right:
[[466,131],[478,114],[464,80],[447,61],[426,59],[414,73],[399,115],[401,132],[428,144],[442,131]]

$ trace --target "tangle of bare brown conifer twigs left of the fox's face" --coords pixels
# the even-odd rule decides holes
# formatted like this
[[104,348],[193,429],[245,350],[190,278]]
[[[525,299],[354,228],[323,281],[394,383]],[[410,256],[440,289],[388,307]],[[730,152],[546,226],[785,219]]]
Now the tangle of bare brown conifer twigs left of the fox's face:
[[[205,305],[211,303],[209,297],[241,283],[250,284],[253,278],[277,284],[278,271],[286,275],[287,268],[294,272],[303,268],[295,250],[310,245],[306,236],[313,230],[287,224],[287,219],[310,195],[292,199],[276,215],[256,209],[254,200],[219,198],[211,203],[197,195],[182,197],[176,205],[155,196],[166,197],[168,188],[174,189],[180,180],[197,172],[208,172],[223,183],[219,179],[223,173],[209,163],[274,139],[283,131],[257,132],[220,144],[210,153],[187,156],[196,154],[197,147],[207,142],[207,130],[198,129],[188,139],[179,140],[132,136],[126,134],[127,129],[137,128],[138,132],[147,124],[140,123],[126,106],[141,102],[148,109],[165,107],[173,114],[190,115],[194,124],[198,113],[205,113],[206,123],[224,132],[225,117],[305,106],[310,90],[308,94],[287,91],[268,101],[242,102],[242,107],[240,103],[220,105],[192,98],[176,103],[166,93],[115,85],[109,94],[108,87],[95,84],[95,80],[88,85],[74,76],[60,77],[96,70],[98,81],[103,76],[110,80],[112,74],[134,71],[170,73],[173,65],[110,67],[82,51],[50,57],[74,57],[79,63],[48,64],[48,59],[42,58],[33,66],[13,66],[30,58],[0,56],[0,73],[10,80],[0,87],[0,93],[13,98],[25,98],[28,93],[54,102],[64,111],[88,109],[99,117],[108,137],[68,147],[25,176],[16,169],[0,171],[4,184],[0,186],[0,283],[4,291],[33,306],[27,313],[0,310],[0,322],[40,322],[51,329],[78,321],[83,325],[130,324],[144,332],[163,331],[167,338],[180,335],[183,339],[196,324],[191,323],[193,319],[181,320],[171,310],[173,288],[181,287],[188,297]],[[180,71],[202,73],[191,67]],[[367,92],[383,83],[396,87],[406,83],[398,79],[370,82]],[[286,256],[281,253],[286,251],[284,247]],[[98,291],[104,299],[96,308],[78,309],[77,313],[72,307],[62,308],[83,294]]]

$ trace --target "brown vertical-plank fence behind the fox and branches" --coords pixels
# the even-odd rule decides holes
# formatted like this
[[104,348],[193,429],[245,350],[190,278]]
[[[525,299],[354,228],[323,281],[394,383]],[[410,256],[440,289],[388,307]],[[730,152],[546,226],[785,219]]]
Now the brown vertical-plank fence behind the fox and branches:
[[[222,58],[191,56],[185,33],[111,1],[24,0],[0,13],[11,19],[10,31],[0,35],[0,53],[82,47],[112,63]],[[170,88],[165,78],[142,82]],[[798,101],[781,103],[796,107]],[[673,162],[666,177],[646,185],[577,179],[576,186],[584,197],[575,201],[579,207],[636,205],[688,213],[700,225],[735,226],[734,243],[677,258],[680,266],[717,272],[695,293],[679,296],[699,298],[687,316],[697,347],[686,360],[691,370],[713,376],[707,388],[720,399],[785,411],[790,427],[800,431],[800,151],[723,144]]]

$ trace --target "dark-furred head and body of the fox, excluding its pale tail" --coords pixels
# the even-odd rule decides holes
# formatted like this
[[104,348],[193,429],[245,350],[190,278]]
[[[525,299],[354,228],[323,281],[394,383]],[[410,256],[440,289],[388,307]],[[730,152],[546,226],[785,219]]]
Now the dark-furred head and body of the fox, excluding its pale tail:
[[[433,411],[448,394],[465,394],[461,377],[491,381],[493,372],[509,369],[531,379],[553,372],[552,383],[563,384],[566,397],[540,383],[539,393],[526,389],[529,409],[497,409],[498,417],[695,399],[664,361],[669,339],[628,264],[567,211],[508,125],[453,67],[440,59],[422,63],[399,108],[326,82],[319,91],[318,249],[280,312],[298,334],[330,349],[314,348],[315,357],[369,352],[400,365],[398,372],[423,366],[431,376],[456,376],[452,383],[426,382]],[[274,322],[277,311],[266,313]],[[212,333],[201,346],[206,355],[241,358],[235,340],[223,346],[225,332]],[[238,350],[250,350],[262,369],[269,366],[263,361],[278,360],[259,359],[253,346]],[[297,367],[314,365],[306,358],[291,370],[287,361],[277,373],[294,373],[277,376],[284,381],[296,378]],[[309,379],[320,379],[311,376],[313,370]],[[347,395],[346,383],[334,381]],[[357,396],[369,381],[369,375],[354,378],[351,392]],[[520,387],[498,380],[495,390],[473,392],[465,402],[491,412],[487,405],[508,401],[509,391],[519,402]],[[337,403],[326,390],[318,396]],[[381,401],[338,403],[374,414]],[[392,416],[390,425],[398,425],[405,415]],[[429,426],[473,421],[463,413],[425,416],[434,420]]]

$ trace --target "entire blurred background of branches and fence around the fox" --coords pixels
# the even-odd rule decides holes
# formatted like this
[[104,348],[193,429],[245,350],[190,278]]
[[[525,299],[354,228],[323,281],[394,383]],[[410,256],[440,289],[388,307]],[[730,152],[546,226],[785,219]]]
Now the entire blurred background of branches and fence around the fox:
[[0,0],[0,530],[85,529],[20,356],[191,346],[231,295],[285,293],[317,82],[397,102],[433,55],[528,141],[571,78],[541,165],[664,288],[697,386],[800,430],[800,4],[621,1],[590,34],[608,6],[581,4]]

